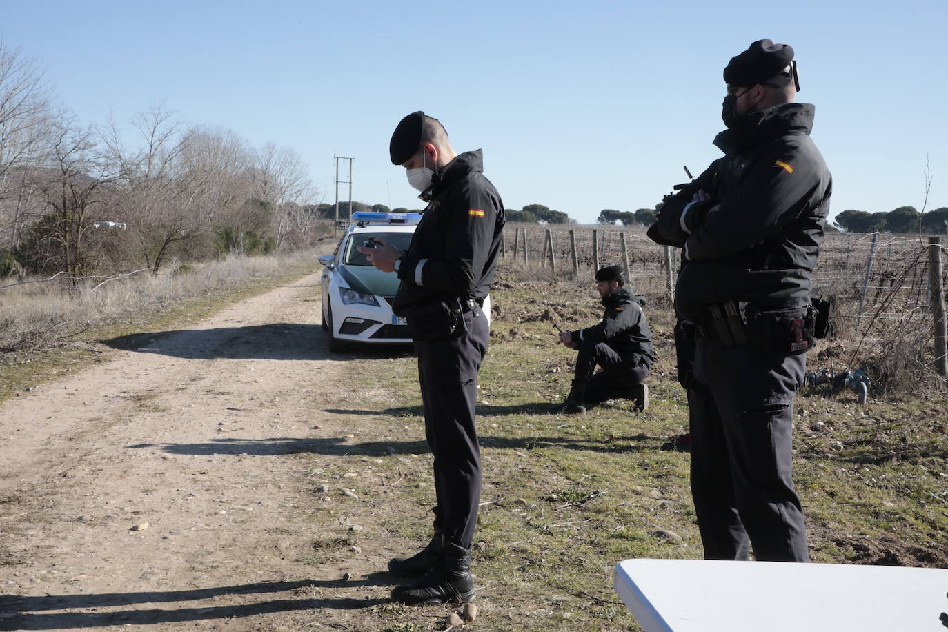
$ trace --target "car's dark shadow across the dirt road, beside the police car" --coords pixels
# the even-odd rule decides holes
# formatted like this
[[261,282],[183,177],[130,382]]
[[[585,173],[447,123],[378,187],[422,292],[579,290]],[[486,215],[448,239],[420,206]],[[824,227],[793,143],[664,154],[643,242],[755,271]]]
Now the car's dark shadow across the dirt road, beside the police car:
[[286,322],[127,334],[100,342],[123,351],[188,359],[356,360],[403,357],[410,352],[405,345],[362,345],[334,353],[319,325]]

